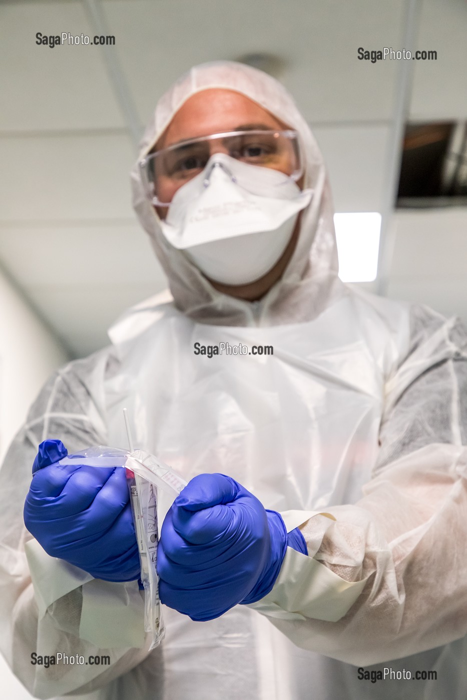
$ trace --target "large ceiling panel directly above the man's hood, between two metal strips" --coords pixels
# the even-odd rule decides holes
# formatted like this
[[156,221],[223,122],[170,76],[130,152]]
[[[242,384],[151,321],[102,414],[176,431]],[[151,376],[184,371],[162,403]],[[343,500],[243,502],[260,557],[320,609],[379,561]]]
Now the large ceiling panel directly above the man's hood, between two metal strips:
[[402,0],[106,0],[126,80],[145,123],[190,66],[252,52],[277,55],[280,76],[313,121],[384,120],[396,61],[358,60],[357,49],[400,45]]

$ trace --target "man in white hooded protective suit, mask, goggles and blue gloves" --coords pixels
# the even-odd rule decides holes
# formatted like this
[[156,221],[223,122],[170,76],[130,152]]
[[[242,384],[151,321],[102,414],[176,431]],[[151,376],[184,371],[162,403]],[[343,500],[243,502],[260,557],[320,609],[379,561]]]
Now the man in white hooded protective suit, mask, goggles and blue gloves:
[[[132,181],[172,298],[57,372],[8,452],[13,671],[41,698],[465,700],[463,328],[339,280],[323,160],[261,71],[182,76]],[[222,342],[248,353],[194,351]],[[152,652],[124,470],[36,455],[124,447],[123,407],[189,482],[163,523]],[[57,652],[110,663],[30,661]]]

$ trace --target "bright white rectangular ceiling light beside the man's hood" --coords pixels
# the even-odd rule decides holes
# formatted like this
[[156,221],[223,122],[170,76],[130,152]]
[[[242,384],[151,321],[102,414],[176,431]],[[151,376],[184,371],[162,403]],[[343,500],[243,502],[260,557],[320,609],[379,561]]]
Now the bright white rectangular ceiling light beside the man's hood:
[[339,277],[343,282],[372,282],[378,270],[381,214],[334,214],[339,253]]

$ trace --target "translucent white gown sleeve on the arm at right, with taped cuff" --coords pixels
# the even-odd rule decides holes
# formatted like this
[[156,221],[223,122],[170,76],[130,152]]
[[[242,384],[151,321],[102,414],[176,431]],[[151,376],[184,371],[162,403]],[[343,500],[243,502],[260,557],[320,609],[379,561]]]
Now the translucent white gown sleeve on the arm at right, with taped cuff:
[[298,646],[357,666],[465,636],[466,396],[466,331],[413,307],[363,498],[295,512],[289,527],[300,526],[309,556],[287,549],[273,590],[251,607]]

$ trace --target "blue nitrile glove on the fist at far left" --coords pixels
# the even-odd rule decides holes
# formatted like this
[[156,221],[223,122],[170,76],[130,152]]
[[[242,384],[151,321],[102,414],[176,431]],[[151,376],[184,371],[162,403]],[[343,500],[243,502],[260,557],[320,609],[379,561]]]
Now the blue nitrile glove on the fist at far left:
[[121,465],[60,465],[60,440],[45,440],[32,467],[25,525],[50,556],[95,578],[130,581],[140,576],[126,473]]

